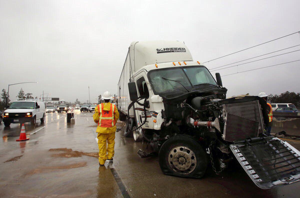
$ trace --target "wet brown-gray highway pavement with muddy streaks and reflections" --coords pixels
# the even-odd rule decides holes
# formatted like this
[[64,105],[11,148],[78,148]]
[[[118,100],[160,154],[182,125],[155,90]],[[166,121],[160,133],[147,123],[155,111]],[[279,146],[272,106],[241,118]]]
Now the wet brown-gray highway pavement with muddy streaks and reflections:
[[220,175],[209,168],[203,179],[165,176],[158,157],[141,159],[142,144],[122,131],[116,133],[115,169],[99,167],[93,113],[74,114],[74,125],[57,112],[47,113],[44,124],[25,124],[30,140],[24,142],[16,141],[19,124],[0,124],[0,197],[298,197],[300,182],[262,190],[237,163]]

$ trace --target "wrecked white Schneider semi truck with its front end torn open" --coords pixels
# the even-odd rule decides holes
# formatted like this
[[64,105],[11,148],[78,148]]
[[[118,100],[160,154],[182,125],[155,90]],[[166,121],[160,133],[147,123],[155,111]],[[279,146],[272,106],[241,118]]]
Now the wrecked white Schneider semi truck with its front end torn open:
[[124,135],[158,153],[166,175],[202,178],[209,163],[220,173],[236,159],[259,188],[299,181],[299,151],[264,132],[266,102],[226,92],[184,43],[132,42],[118,83]]

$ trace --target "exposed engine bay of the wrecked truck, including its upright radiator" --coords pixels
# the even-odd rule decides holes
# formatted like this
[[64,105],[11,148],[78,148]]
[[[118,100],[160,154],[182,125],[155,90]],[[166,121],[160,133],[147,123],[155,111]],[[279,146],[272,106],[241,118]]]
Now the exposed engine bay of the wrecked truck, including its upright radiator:
[[154,151],[173,136],[192,136],[210,154],[216,173],[232,159],[229,144],[263,136],[264,123],[268,123],[268,115],[263,113],[266,103],[256,96],[218,99],[217,95],[190,95],[184,100],[164,100],[164,105],[160,133],[145,131]]

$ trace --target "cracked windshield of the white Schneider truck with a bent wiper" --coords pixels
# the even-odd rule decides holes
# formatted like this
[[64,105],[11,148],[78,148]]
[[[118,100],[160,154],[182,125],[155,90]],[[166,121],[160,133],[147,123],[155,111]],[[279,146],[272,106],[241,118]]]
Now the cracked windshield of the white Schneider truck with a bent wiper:
[[203,66],[154,70],[149,72],[149,78],[156,93],[173,92],[184,88],[190,89],[202,84],[217,86],[214,78]]

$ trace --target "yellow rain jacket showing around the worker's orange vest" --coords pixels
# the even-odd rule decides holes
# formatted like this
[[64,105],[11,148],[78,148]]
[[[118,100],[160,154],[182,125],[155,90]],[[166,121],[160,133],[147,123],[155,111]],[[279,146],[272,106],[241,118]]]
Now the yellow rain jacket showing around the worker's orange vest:
[[[100,108],[101,108],[101,105],[100,105]],[[119,112],[118,112],[117,108],[115,108],[115,109],[116,110],[114,112],[114,119],[117,122],[118,119],[119,119]],[[110,110],[110,102],[104,103],[104,109],[103,110],[104,111],[109,111]],[[98,109],[98,106],[95,107],[95,113],[93,115],[93,118],[94,118],[95,123],[99,122],[99,109]],[[100,127],[100,126],[98,126],[96,132],[108,134],[108,133],[116,132],[116,129],[117,129],[116,125],[113,126],[113,127]]]

